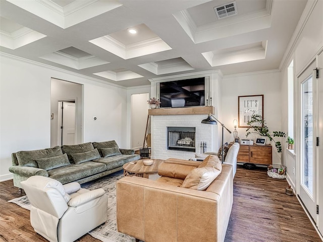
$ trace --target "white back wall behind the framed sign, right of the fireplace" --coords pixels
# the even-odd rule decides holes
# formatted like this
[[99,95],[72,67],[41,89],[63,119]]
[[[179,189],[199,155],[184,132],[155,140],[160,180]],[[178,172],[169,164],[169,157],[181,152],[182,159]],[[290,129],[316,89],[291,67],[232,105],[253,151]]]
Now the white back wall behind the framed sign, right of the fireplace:
[[[233,120],[238,119],[238,96],[263,94],[263,118],[271,132],[281,131],[280,72],[268,71],[225,76],[222,82],[222,120],[233,131]],[[237,128],[240,139],[246,139],[246,128]],[[233,135],[224,132],[224,142],[232,142]],[[250,139],[251,137],[248,137]],[[283,138],[275,138],[276,141]],[[273,145],[273,163],[281,163],[280,154]]]

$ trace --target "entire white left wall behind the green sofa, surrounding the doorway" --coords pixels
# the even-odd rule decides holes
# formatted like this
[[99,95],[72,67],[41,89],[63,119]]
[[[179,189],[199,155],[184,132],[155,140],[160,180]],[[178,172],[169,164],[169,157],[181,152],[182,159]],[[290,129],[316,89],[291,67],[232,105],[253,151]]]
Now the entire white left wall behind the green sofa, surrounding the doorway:
[[130,148],[125,88],[1,53],[0,180],[12,178],[11,153],[50,147],[51,78],[84,85],[83,142],[116,140]]

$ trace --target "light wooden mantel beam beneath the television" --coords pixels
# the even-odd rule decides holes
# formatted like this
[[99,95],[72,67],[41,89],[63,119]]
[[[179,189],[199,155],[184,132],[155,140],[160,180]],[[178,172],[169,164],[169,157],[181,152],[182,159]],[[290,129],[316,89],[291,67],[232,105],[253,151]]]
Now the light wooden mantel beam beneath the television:
[[191,115],[191,114],[209,114],[209,113],[214,114],[213,106],[148,109],[148,115]]

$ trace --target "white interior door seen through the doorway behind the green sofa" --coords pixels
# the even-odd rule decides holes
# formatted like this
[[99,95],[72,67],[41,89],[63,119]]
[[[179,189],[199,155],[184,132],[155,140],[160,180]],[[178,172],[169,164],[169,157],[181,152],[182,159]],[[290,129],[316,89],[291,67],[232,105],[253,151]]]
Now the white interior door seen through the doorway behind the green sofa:
[[62,145],[75,144],[75,103],[63,102]]

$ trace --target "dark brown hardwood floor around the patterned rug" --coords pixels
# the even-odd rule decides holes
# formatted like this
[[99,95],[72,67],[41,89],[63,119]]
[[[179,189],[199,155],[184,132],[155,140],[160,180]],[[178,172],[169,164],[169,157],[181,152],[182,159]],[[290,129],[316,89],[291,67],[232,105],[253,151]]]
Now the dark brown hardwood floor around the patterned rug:
[[[264,170],[239,167],[225,241],[321,241],[297,198],[285,194],[287,187],[285,179],[268,177]],[[0,241],[47,241],[34,232],[28,210],[7,202],[20,196],[12,180],[0,183],[0,194]],[[99,242],[88,234],[77,241]]]

